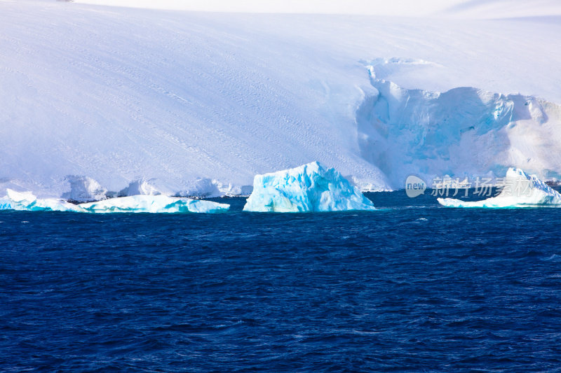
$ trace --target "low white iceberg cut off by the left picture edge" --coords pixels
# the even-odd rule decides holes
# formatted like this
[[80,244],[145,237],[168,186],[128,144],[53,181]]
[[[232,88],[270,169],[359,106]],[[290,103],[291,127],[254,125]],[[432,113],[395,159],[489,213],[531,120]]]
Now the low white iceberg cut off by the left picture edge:
[[12,189],[6,189],[6,196],[0,198],[0,210],[81,211],[79,206],[62,199],[39,199],[32,192],[16,192]]

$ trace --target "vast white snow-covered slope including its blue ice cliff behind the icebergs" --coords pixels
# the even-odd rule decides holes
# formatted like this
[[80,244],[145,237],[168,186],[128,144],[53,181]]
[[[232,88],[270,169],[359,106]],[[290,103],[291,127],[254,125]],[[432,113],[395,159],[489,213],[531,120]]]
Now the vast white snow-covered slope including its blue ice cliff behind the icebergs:
[[0,194],[235,194],[312,160],[363,189],[510,166],[558,177],[560,34],[0,1]]

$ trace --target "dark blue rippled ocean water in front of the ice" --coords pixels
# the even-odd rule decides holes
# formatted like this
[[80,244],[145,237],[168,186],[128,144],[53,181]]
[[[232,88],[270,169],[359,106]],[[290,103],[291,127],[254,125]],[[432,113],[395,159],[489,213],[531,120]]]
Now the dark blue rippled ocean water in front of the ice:
[[0,213],[2,372],[561,372],[561,209]]

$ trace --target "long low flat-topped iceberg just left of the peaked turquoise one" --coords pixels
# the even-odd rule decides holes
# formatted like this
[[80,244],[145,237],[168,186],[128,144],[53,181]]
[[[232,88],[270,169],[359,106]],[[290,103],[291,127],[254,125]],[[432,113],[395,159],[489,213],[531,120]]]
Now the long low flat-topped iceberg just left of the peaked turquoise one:
[[220,213],[228,211],[230,205],[165,195],[133,195],[79,204],[79,207],[90,213]]

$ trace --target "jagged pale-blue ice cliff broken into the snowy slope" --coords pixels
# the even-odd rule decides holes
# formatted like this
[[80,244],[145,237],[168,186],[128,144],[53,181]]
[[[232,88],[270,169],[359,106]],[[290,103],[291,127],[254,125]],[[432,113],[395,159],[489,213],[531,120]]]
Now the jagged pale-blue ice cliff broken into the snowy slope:
[[[363,157],[391,185],[414,173],[436,177],[498,178],[508,167],[524,167],[542,178],[561,176],[561,106],[522,94],[474,87],[446,92],[412,90],[386,78],[396,71],[442,69],[418,59],[365,62],[372,87],[357,111]],[[399,144],[399,146],[396,146]]]

